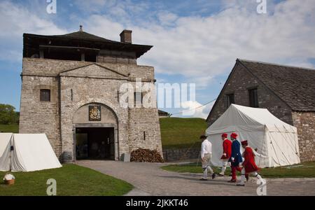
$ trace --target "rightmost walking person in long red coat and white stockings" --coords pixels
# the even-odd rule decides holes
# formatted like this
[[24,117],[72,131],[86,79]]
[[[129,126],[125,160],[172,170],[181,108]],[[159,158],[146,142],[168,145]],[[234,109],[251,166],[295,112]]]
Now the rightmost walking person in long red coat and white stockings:
[[[255,151],[253,148],[248,146],[247,141],[241,141],[241,146],[245,149],[244,153],[241,155],[244,158],[244,162],[242,162],[243,169],[241,169],[241,183],[237,184],[237,186],[245,186],[246,175],[253,174],[257,179],[260,180],[260,183],[265,183],[265,180],[258,174],[259,168],[255,164]],[[258,154],[258,153],[256,153]],[[262,155],[258,154],[260,157]]]

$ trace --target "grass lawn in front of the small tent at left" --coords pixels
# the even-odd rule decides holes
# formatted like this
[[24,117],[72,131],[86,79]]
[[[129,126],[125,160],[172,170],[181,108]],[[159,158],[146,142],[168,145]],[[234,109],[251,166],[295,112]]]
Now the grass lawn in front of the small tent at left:
[[59,169],[39,172],[13,172],[15,184],[6,186],[2,178],[6,172],[0,172],[0,195],[47,195],[46,181],[57,181],[57,195],[124,195],[133,186],[92,169],[78,165],[63,165]]

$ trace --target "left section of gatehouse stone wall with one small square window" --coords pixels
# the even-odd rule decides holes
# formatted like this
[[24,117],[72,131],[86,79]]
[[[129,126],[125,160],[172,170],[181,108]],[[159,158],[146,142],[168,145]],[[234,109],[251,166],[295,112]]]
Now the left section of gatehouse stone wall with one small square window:
[[[23,76],[20,127],[23,133],[45,133],[57,157],[61,154],[59,80],[55,77]],[[40,90],[50,89],[50,102],[40,102]]]

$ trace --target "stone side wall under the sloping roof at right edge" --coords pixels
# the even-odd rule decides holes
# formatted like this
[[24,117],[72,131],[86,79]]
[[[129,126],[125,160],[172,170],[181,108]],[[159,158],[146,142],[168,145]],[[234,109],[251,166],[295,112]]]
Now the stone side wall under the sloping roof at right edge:
[[315,160],[315,112],[293,112],[293,125],[297,127],[301,161]]

